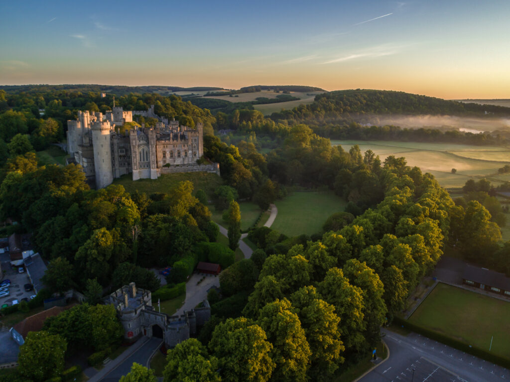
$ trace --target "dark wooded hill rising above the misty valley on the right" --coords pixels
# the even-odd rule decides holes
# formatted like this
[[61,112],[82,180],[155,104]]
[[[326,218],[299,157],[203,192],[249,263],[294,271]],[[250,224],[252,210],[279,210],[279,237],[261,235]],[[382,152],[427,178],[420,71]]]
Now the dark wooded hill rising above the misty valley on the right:
[[314,103],[271,114],[272,119],[306,120],[356,114],[431,114],[509,116],[510,108],[457,101],[389,90],[339,90],[318,94]]

